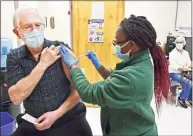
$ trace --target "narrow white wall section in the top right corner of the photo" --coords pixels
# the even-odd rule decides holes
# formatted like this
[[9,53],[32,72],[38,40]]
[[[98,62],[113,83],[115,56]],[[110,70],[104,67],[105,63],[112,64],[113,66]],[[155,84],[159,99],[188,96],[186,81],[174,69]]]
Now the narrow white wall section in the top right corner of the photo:
[[179,1],[176,26],[191,26],[191,1]]

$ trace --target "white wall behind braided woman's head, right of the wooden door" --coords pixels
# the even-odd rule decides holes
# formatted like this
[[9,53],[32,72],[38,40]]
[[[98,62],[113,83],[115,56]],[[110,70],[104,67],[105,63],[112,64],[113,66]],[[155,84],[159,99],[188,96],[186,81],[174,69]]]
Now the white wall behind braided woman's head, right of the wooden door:
[[166,42],[168,32],[175,30],[177,1],[125,1],[125,17],[146,16],[154,26],[157,37]]

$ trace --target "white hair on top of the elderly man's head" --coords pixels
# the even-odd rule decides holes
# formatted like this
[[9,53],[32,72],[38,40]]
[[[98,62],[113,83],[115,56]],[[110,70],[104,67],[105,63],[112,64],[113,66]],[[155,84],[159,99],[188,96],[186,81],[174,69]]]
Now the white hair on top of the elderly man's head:
[[[35,8],[31,8],[31,7],[25,7],[25,8],[18,8],[15,11],[15,14],[13,15],[13,27],[17,28],[19,27],[19,22],[20,22],[20,16],[22,14],[26,14],[26,13],[37,13],[37,15],[40,16],[39,12],[37,11],[37,9]],[[40,16],[41,19],[41,16]]]

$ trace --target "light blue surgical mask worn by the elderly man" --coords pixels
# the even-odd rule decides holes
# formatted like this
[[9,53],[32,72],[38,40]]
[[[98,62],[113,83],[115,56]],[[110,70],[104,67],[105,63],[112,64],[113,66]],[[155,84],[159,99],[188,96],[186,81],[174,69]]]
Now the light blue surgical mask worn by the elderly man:
[[25,32],[24,43],[31,48],[38,48],[44,42],[43,31],[34,30],[32,32]]

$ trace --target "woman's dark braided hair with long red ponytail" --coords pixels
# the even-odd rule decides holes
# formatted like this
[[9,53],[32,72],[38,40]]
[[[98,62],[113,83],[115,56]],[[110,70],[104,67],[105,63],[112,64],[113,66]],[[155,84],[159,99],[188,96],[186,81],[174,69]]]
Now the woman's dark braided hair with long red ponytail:
[[167,59],[160,46],[156,44],[157,34],[151,23],[143,16],[131,15],[124,19],[120,27],[128,40],[134,41],[140,50],[149,48],[154,62],[154,94],[159,111],[162,98],[168,98],[170,78]]

